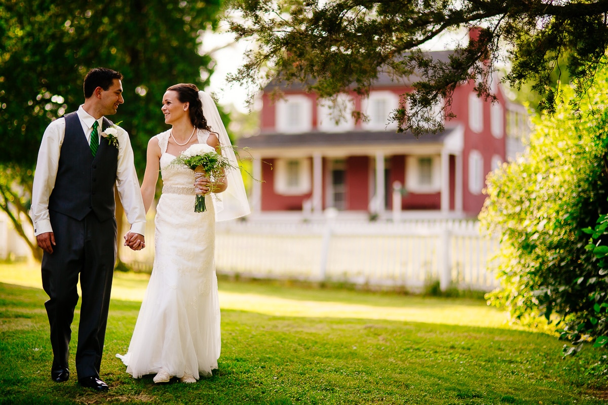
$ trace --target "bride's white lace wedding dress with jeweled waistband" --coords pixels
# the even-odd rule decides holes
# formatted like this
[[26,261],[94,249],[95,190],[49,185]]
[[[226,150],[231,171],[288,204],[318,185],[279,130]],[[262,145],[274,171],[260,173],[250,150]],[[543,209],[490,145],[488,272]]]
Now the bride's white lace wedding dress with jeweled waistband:
[[[205,143],[209,132],[198,131]],[[156,206],[154,267],[126,355],[126,372],[139,378],[159,372],[181,378],[211,375],[221,348],[215,274],[215,208],[195,213],[194,172],[171,165],[169,131],[161,147],[163,189]]]

